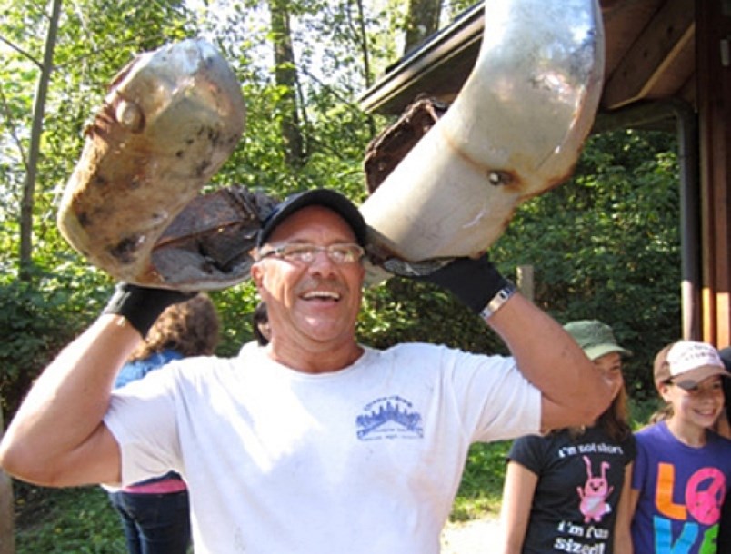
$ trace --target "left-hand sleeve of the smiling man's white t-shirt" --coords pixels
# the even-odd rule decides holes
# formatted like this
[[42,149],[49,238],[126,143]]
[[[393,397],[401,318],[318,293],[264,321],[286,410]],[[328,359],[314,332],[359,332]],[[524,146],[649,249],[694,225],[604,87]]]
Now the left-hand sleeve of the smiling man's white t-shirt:
[[180,471],[175,371],[153,371],[112,392],[105,425],[121,452],[122,484]]

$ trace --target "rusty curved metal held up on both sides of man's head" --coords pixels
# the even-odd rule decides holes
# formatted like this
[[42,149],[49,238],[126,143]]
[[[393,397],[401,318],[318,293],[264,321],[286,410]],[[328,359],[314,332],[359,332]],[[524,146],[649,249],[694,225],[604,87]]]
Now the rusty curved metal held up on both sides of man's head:
[[[573,171],[601,90],[596,0],[489,5],[481,54],[455,103],[423,122],[416,146],[383,182],[376,175],[361,206],[371,227],[367,282],[483,252],[517,203]],[[212,45],[183,41],[138,56],[87,130],[61,232],[118,280],[180,290],[244,281],[275,199],[244,187],[199,195],[244,120],[239,84]]]

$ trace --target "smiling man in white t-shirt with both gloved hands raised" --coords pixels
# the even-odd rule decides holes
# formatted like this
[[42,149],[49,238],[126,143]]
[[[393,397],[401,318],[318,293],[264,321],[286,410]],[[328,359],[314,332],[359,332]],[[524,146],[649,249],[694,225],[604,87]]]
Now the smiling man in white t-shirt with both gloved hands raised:
[[176,470],[196,552],[438,552],[470,443],[587,424],[611,386],[486,258],[431,280],[483,312],[514,358],[359,345],[365,243],[366,223],[339,193],[285,201],[251,270],[270,343],[175,362],[111,393],[145,326],[182,297],[121,287],[36,381],[0,463],[48,486]]

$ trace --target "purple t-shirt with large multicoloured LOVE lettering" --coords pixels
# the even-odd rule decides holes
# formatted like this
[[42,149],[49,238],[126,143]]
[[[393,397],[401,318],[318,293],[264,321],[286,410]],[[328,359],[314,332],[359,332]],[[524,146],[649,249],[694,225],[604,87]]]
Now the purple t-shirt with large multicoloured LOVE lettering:
[[632,542],[642,554],[714,554],[731,476],[731,440],[687,446],[661,421],[636,432]]

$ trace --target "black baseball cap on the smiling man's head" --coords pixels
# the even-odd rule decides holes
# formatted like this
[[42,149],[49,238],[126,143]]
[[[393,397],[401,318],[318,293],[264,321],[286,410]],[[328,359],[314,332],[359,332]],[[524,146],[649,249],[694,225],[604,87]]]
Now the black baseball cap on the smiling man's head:
[[360,210],[343,194],[331,189],[313,189],[287,196],[282,203],[276,205],[274,211],[265,219],[261,231],[259,231],[256,246],[261,247],[280,223],[307,206],[324,206],[337,213],[353,229],[358,244],[366,246],[368,226]]

